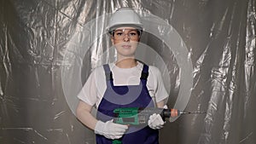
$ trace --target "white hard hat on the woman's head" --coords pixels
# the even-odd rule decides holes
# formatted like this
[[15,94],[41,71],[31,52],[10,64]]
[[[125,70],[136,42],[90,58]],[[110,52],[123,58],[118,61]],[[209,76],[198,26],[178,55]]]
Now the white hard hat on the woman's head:
[[108,22],[107,31],[111,32],[121,26],[131,26],[138,30],[143,30],[143,24],[139,15],[128,7],[120,8],[112,14]]

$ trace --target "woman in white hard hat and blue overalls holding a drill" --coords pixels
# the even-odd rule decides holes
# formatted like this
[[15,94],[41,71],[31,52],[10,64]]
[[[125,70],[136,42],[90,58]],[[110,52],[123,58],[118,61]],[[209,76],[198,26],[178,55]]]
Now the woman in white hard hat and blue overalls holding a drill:
[[[153,114],[147,126],[113,123],[113,110],[119,107],[164,107],[168,97],[160,71],[135,59],[143,32],[139,16],[132,9],[118,9],[110,18],[108,32],[117,51],[114,63],[97,67],[79,93],[77,117],[94,130],[97,143],[156,144],[158,129],[165,124]],[[96,118],[90,113],[96,107]]]

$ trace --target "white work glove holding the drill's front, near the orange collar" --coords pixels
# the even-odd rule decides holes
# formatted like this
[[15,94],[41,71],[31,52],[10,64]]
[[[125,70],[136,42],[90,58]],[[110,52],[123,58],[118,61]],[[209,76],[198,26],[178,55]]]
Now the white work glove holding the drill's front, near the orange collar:
[[[164,108],[167,109],[167,106],[165,105]],[[154,130],[163,128],[164,124],[166,124],[166,122],[164,122],[160,114],[154,113],[148,119],[148,126]]]

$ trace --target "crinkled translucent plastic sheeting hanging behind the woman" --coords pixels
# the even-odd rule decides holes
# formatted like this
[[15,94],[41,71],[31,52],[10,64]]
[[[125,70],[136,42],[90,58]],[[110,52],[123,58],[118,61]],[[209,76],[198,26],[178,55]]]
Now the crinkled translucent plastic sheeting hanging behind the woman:
[[[161,37],[177,32],[179,42],[144,32],[142,43],[156,54],[148,63],[164,70],[169,107],[189,96],[184,111],[207,112],[166,123],[160,143],[255,144],[255,0],[2,0],[0,143],[95,143],[93,131],[73,114],[79,87],[67,88],[76,80],[84,84],[92,68],[112,60],[102,27],[120,7],[164,20],[172,29],[159,23]],[[71,49],[84,42],[79,38],[91,43],[84,55]],[[188,51],[181,61],[191,61],[191,88],[183,78],[190,69],[168,41]],[[70,81],[65,72],[76,77]]]

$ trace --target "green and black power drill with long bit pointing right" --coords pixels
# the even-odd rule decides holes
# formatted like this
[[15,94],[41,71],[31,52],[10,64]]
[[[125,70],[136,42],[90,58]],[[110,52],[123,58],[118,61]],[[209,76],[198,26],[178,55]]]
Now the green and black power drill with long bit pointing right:
[[115,118],[113,123],[116,124],[131,124],[142,125],[148,124],[149,117],[156,113],[160,114],[161,118],[165,121],[166,118],[174,118],[180,114],[189,113],[205,113],[205,112],[180,112],[177,109],[165,109],[156,107],[125,107],[114,109]]

